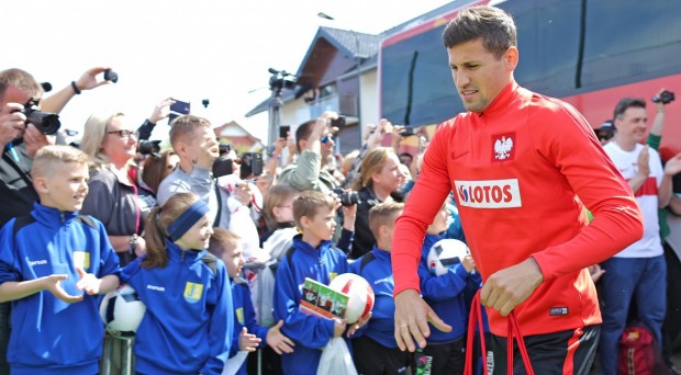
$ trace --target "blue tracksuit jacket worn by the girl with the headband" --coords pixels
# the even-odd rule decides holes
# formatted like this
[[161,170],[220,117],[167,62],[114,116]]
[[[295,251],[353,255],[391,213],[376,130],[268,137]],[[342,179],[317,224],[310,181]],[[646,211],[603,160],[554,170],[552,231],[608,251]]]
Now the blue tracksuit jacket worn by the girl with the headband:
[[145,269],[138,258],[121,282],[146,305],[135,336],[135,371],[143,374],[222,374],[234,329],[232,287],[224,263],[201,261],[205,250],[183,251],[166,240],[168,264]]

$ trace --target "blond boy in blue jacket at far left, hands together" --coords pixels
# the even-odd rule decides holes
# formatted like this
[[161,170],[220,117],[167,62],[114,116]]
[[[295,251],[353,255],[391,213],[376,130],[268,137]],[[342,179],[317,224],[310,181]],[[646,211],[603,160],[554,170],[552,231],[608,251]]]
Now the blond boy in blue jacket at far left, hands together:
[[119,285],[119,258],[103,225],[79,216],[88,157],[70,146],[35,155],[40,202],[0,231],[0,302],[12,302],[12,374],[99,372],[104,329],[98,294]]

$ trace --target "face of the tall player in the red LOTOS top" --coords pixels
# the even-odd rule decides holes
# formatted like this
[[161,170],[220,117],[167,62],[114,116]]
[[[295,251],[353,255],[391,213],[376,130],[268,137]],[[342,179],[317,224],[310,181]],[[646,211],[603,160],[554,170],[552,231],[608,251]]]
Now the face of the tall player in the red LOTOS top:
[[470,112],[484,111],[512,81],[517,65],[517,48],[509,47],[498,59],[482,43],[478,38],[447,49],[454,83]]

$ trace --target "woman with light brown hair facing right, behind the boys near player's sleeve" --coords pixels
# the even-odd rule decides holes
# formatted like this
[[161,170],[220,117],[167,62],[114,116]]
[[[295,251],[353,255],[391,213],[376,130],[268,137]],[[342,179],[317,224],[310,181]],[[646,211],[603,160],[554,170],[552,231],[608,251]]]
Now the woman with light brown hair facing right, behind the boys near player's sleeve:
[[359,180],[353,189],[357,191],[358,206],[355,221],[355,239],[348,258],[357,259],[371,251],[376,238],[369,229],[369,211],[383,202],[402,202],[398,193],[404,177],[399,169],[400,159],[389,147],[377,147],[364,157]]

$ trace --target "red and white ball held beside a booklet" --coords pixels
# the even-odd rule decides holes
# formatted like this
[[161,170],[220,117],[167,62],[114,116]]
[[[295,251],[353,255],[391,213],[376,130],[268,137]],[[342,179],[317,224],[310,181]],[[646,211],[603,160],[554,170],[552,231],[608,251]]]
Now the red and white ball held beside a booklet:
[[359,318],[367,318],[373,308],[373,289],[360,275],[343,273],[337,275],[328,285],[332,289],[348,295],[345,318],[348,323],[355,323]]

